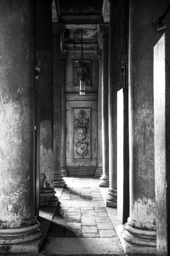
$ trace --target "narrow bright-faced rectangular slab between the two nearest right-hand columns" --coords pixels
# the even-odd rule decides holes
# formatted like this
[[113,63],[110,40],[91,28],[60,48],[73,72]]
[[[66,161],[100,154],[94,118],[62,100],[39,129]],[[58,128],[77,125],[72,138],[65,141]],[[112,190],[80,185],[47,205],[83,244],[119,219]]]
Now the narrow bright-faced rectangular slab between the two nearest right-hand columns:
[[117,117],[117,214],[125,224],[129,217],[128,88],[118,91]]

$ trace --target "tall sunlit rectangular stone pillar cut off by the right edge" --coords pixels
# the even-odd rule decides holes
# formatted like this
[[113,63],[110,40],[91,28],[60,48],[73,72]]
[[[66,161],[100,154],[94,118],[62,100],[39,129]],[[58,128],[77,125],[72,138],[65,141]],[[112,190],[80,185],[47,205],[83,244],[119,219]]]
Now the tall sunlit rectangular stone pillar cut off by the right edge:
[[[167,25],[167,23],[166,23]],[[154,145],[157,255],[170,254],[170,34],[154,47]]]

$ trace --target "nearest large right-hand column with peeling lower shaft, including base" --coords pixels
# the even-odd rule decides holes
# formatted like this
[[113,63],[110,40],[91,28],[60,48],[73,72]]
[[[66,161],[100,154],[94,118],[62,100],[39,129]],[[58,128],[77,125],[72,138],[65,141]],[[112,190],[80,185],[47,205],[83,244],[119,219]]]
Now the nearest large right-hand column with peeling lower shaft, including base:
[[122,235],[126,253],[156,253],[153,49],[161,34],[144,24],[152,23],[152,7],[157,17],[161,5],[131,0],[129,7],[130,216]]

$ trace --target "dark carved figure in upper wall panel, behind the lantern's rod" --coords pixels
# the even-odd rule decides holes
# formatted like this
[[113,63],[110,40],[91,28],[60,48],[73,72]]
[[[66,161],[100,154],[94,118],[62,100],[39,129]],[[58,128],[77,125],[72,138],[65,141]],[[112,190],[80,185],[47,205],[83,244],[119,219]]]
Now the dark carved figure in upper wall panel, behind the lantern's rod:
[[[78,61],[78,66],[74,68],[74,84],[79,84],[79,78],[81,77],[81,61]],[[83,77],[89,79],[89,63],[83,63]]]

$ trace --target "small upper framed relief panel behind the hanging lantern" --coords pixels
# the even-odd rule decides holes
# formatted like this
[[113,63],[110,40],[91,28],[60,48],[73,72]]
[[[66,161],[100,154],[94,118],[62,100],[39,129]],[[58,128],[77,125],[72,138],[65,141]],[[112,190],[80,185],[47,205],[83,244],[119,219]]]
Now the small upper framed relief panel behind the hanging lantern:
[[[78,86],[81,73],[81,60],[73,60],[73,86]],[[91,86],[91,60],[83,61],[83,76],[87,79],[87,86]]]

